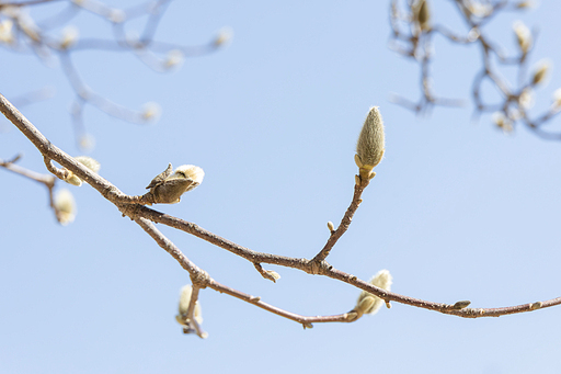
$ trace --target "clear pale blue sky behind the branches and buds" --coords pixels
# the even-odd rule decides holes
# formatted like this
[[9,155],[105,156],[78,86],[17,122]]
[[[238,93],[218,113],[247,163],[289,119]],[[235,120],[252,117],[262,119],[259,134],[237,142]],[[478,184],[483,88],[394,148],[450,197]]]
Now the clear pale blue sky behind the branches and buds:
[[[437,16],[459,25],[448,1]],[[512,22],[539,26],[533,61],[561,61],[561,4],[496,20],[514,48]],[[128,3],[128,2],[127,2]],[[115,7],[125,2],[115,1]],[[205,1],[171,4],[157,37],[207,41],[228,25],[234,38],[216,54],[187,59],[171,75],[114,53],[76,55],[84,80],[131,107],[163,107],[139,126],[88,107],[100,174],[141,194],[172,162],[206,177],[181,204],[157,209],[194,222],[251,249],[313,257],[353,193],[354,146],[371,105],[386,123],[386,158],[353,225],[329,261],[369,279],[380,269],[392,291],[433,302],[470,299],[500,307],[559,296],[561,143],[525,128],[514,136],[470,107],[427,118],[389,102],[416,99],[417,68],[387,48],[389,1]],[[439,7],[439,8],[438,8]],[[108,34],[90,16],[83,35]],[[76,24],[78,24],[76,22]],[[90,27],[90,29],[89,29]],[[458,26],[458,30],[462,30]],[[468,98],[480,63],[474,47],[439,41],[435,89]],[[0,92],[44,86],[56,97],[24,109],[50,141],[81,155],[60,70],[32,55],[0,50]],[[542,105],[561,87],[553,70]],[[557,121],[559,122],[559,120]],[[553,123],[551,127],[554,127]],[[38,151],[5,121],[0,158],[46,172]],[[156,242],[88,185],[72,188],[73,224],[61,227],[43,186],[0,170],[0,371],[2,373],[557,373],[561,308],[461,319],[393,304],[356,324],[312,330],[211,290],[203,291],[209,338],[184,336],[174,315],[188,275]],[[59,183],[59,186],[64,183]],[[161,227],[218,282],[302,315],[350,310],[358,291],[329,279],[265,267]]]

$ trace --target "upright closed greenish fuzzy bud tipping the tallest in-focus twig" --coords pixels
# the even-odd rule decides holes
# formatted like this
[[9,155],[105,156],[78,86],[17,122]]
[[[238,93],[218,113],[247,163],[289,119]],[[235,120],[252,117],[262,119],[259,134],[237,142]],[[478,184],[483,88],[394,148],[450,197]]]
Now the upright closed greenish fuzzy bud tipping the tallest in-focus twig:
[[383,122],[378,106],[373,106],[356,143],[355,163],[359,168],[360,177],[369,177],[373,168],[380,163],[383,151]]

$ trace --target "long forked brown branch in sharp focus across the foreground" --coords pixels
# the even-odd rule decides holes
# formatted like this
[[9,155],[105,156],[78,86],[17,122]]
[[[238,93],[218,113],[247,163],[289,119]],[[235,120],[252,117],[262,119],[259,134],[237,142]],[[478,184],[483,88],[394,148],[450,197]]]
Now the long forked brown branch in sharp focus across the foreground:
[[[90,169],[85,168],[83,165],[77,162],[72,157],[67,155],[66,152],[58,149],[56,146],[50,144],[43,134],[41,134],[35,126],[33,126],[13,105],[11,105],[5,98],[0,94],[0,111],[4,113],[4,115],[18,127],[20,131],[35,145],[35,147],[41,151],[41,154],[47,158],[53,159],[77,174],[79,178],[83,179],[90,185],[92,185],[95,190],[98,190],[105,199],[113,202],[117,207],[123,212],[124,215],[133,218],[138,225],[142,227],[157,242],[160,247],[162,247],[165,251],[168,251],[180,264],[183,269],[185,269],[190,274],[195,286],[199,287],[210,287],[221,293],[226,293],[228,295],[238,297],[255,306],[263,308],[267,311],[277,314],[285,318],[298,321],[302,324],[305,327],[309,327],[311,322],[328,322],[328,321],[340,321],[340,322],[348,322],[355,320],[356,316],[353,314],[342,314],[336,316],[320,316],[320,317],[304,317],[299,316],[277,307],[274,307],[270,304],[261,302],[259,297],[251,296],[244,294],[242,292],[236,291],[228,286],[221,285],[216,281],[211,280],[208,274],[196,267],[193,262],[191,262],[179,249],[168,240],[161,233],[159,233],[154,225],[151,222],[162,223],[168,226],[184,230],[186,233],[193,234],[206,241],[209,241],[218,247],[221,247],[237,256],[240,256],[251,263],[274,263],[278,265],[284,265],[287,268],[299,269],[310,274],[321,274],[324,276],[329,276],[334,280],[339,280],[345,282],[350,285],[353,285],[357,288],[367,291],[380,298],[382,298],[386,303],[390,301],[394,301],[397,303],[407,304],[428,310],[440,311],[448,315],[455,315],[465,318],[478,318],[478,317],[497,317],[503,315],[510,315],[515,313],[524,313],[531,311],[539,308],[551,307],[561,304],[561,297],[552,298],[545,302],[536,302],[529,304],[523,304],[517,306],[502,307],[502,308],[461,308],[458,309],[458,304],[443,304],[443,303],[433,303],[426,302],[422,299],[416,299],[409,296],[403,296],[400,294],[396,294],[379,287],[376,287],[365,281],[359,280],[357,276],[342,272],[340,270],[334,269],[325,261],[317,262],[313,260],[306,259],[296,259],[288,258],[276,254],[261,253],[256,251],[252,251],[248,248],[241,247],[239,245],[233,243],[227,239],[224,239],[210,231],[207,231],[193,223],[185,222],[183,219],[169,216],[167,214],[150,209],[146,206],[141,206],[135,204],[135,202],[139,201],[141,196],[128,196],[122,193],[116,186],[111,184],[108,181],[92,172]],[[356,211],[356,207],[353,205],[357,205],[359,202],[359,193],[366,186],[365,182],[359,183],[358,189],[355,188],[355,197],[353,203],[351,204],[347,213],[345,214],[345,219],[351,219],[352,213]],[[356,201],[355,201],[356,200]],[[344,226],[343,224],[341,226]],[[339,228],[337,228],[339,229]],[[346,229],[345,229],[346,230]],[[330,238],[331,239],[331,238]],[[333,239],[334,240],[334,239]],[[328,240],[328,242],[330,242]]]

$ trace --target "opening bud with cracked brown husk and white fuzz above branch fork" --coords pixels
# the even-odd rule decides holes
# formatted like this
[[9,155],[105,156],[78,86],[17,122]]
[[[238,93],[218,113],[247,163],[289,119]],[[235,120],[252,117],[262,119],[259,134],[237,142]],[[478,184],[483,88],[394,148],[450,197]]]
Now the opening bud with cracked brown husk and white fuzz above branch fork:
[[147,186],[157,204],[179,203],[181,195],[199,185],[205,177],[203,169],[193,165],[183,165],[175,169],[173,174],[171,171],[170,163],[168,169],[158,174]]

